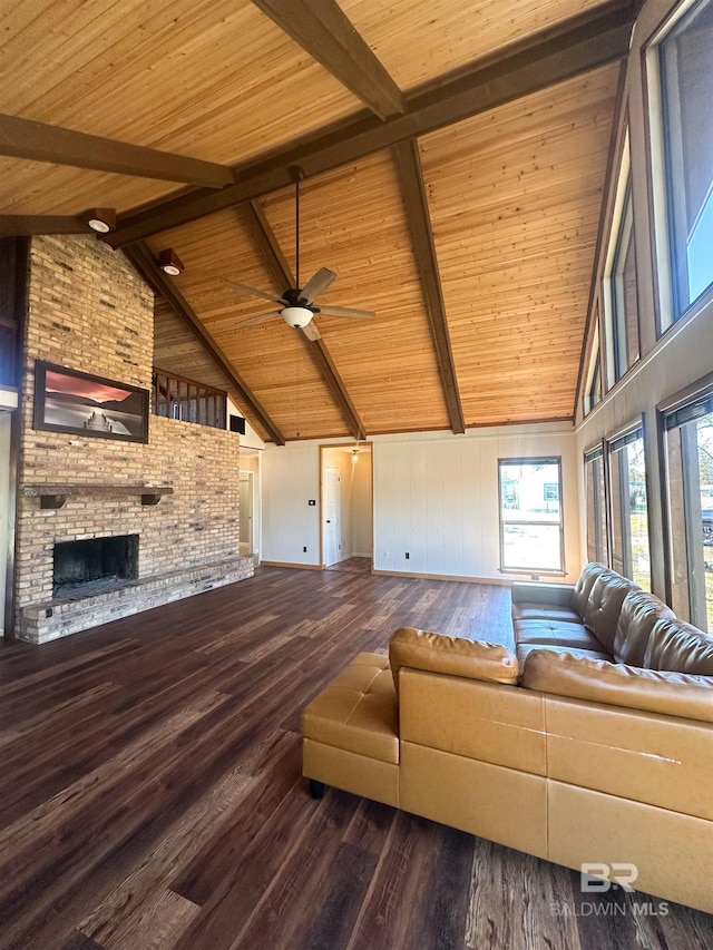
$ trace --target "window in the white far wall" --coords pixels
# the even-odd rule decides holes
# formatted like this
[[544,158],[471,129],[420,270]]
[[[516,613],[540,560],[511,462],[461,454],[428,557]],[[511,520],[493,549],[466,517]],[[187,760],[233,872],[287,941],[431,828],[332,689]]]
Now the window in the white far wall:
[[500,568],[563,570],[561,461],[500,459]]

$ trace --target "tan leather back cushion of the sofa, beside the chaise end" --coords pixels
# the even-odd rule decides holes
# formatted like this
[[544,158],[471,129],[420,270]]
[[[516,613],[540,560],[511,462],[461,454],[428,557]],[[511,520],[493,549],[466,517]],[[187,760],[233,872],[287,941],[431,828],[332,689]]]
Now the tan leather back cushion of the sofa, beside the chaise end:
[[516,685],[519,676],[516,655],[501,644],[449,637],[413,627],[401,627],[392,634],[389,663],[397,693],[402,666],[509,686]]

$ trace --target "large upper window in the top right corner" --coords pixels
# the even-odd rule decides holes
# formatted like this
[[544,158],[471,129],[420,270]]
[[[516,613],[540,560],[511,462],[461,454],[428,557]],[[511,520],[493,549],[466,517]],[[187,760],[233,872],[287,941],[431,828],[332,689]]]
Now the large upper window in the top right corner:
[[[713,284],[713,0],[682,4],[648,56],[660,110],[654,125],[656,224],[668,237],[664,292],[681,316]],[[661,186],[661,182],[665,185]],[[668,270],[670,267],[670,270]],[[670,287],[668,287],[670,285]]]

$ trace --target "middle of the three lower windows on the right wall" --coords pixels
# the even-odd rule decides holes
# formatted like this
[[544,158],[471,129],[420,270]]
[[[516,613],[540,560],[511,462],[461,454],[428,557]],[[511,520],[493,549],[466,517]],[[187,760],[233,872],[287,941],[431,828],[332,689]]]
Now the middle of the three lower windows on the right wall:
[[642,427],[608,443],[612,567],[651,590],[646,467]]

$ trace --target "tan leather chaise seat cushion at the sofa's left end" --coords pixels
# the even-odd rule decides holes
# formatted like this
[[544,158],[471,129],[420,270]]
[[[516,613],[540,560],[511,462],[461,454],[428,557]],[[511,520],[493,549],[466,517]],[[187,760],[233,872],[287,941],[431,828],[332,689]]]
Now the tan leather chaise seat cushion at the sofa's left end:
[[359,654],[303,712],[302,735],[398,764],[399,712],[387,657]]

